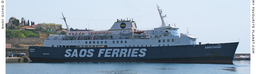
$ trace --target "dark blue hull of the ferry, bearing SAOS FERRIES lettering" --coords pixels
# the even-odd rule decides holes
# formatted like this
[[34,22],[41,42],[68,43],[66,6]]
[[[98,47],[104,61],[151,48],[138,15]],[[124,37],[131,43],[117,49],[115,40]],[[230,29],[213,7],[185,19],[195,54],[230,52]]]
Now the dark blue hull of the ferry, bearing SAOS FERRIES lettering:
[[233,64],[238,42],[160,47],[29,47],[33,62],[163,62]]

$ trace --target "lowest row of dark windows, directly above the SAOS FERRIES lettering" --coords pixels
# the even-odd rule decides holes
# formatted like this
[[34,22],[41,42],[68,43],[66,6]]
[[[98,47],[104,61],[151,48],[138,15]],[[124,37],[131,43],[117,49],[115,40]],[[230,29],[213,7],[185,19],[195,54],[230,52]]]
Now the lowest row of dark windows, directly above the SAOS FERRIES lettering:
[[[54,47],[52,45],[52,47]],[[57,45],[57,47],[108,47],[107,45],[85,45],[85,46],[61,46],[61,45]]]

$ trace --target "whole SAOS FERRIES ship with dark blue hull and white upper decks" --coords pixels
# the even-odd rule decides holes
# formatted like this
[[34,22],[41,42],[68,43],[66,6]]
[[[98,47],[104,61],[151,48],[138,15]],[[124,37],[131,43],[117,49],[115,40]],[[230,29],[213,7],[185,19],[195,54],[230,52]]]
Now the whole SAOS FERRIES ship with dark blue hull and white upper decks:
[[[156,62],[233,64],[239,42],[197,44],[196,37],[178,34],[178,27],[166,26],[157,6],[161,27],[138,30],[133,19],[117,19],[109,30],[69,30],[50,35],[44,46],[30,46],[33,62]],[[139,24],[138,24],[139,25]]]

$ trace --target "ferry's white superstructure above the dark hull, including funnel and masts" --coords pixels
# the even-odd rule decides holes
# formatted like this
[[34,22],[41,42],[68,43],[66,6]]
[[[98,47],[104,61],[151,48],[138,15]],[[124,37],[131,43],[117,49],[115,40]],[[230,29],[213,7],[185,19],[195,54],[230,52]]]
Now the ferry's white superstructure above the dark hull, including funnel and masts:
[[178,34],[179,28],[176,26],[165,26],[163,17],[166,15],[162,16],[159,7],[158,11],[162,25],[154,30],[138,30],[135,21],[117,19],[109,30],[79,30],[68,31],[66,35],[50,35],[45,39],[44,45],[45,47],[154,47],[196,44],[196,37]]

